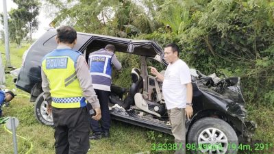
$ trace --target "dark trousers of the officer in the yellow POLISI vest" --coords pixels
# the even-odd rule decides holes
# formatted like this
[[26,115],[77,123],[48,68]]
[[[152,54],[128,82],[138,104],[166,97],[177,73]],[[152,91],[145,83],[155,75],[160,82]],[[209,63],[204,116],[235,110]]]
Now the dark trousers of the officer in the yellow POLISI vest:
[[53,107],[56,154],[86,154],[90,148],[86,107],[58,109]]

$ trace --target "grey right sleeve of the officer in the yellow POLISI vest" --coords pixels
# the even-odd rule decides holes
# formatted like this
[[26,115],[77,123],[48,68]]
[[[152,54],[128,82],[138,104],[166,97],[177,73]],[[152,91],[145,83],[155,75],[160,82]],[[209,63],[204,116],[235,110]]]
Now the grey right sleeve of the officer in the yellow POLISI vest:
[[93,89],[88,64],[86,63],[86,59],[83,55],[79,55],[75,70],[77,78],[79,79],[80,87],[83,90],[84,97],[92,105],[93,109],[99,108],[99,100],[97,99],[97,95]]

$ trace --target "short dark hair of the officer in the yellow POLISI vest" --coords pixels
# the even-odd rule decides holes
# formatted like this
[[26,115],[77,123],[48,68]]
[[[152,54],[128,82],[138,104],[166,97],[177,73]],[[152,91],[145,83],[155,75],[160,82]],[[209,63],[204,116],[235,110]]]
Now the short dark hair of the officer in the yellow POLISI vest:
[[73,27],[62,26],[57,30],[57,38],[60,42],[72,44],[77,38],[77,32]]

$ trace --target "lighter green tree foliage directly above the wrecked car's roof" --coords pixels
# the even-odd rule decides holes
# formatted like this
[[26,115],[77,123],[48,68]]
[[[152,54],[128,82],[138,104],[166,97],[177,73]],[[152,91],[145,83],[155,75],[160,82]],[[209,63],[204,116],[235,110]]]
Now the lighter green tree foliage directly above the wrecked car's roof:
[[161,25],[148,14],[146,4],[139,5],[130,0],[47,0],[47,5],[58,8],[53,23],[71,25],[77,30],[93,34],[105,34],[119,37],[132,37],[147,34]]

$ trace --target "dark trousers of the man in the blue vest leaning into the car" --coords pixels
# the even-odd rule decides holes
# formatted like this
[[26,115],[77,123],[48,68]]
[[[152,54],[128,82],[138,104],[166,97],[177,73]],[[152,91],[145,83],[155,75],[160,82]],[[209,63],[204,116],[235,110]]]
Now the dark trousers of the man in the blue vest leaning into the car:
[[95,89],[96,95],[99,99],[101,106],[101,127],[99,121],[91,119],[90,127],[93,132],[109,131],[110,130],[110,110],[108,110],[108,101],[110,97],[110,92],[104,90]]

